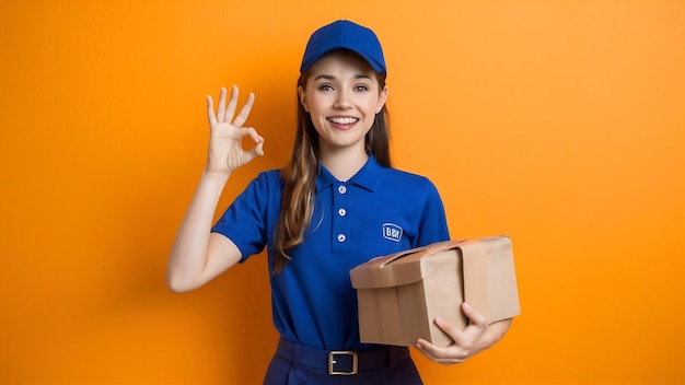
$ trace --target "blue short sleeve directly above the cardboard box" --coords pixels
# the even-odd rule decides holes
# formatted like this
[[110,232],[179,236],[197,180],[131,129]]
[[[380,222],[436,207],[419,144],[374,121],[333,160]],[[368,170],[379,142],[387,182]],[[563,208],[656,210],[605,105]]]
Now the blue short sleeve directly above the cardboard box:
[[448,219],[438,188],[430,180],[428,180],[427,188],[426,202],[419,223],[418,247],[450,240]]

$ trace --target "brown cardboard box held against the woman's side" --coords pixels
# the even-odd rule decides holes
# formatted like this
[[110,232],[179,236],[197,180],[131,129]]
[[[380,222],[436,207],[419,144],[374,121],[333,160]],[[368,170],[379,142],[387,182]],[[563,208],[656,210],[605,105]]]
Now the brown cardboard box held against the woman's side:
[[466,301],[494,323],[520,314],[511,240],[490,236],[448,241],[378,257],[350,270],[359,300],[361,342],[438,346],[452,339],[436,324],[463,329]]

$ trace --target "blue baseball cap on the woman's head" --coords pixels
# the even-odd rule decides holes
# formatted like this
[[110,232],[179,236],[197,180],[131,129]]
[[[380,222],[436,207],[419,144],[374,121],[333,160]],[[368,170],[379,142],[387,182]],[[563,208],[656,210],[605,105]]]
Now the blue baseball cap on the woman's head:
[[306,71],[316,60],[334,49],[349,49],[357,52],[376,72],[387,74],[383,48],[373,31],[348,20],[338,20],[324,25],[312,34],[304,49],[300,72]]

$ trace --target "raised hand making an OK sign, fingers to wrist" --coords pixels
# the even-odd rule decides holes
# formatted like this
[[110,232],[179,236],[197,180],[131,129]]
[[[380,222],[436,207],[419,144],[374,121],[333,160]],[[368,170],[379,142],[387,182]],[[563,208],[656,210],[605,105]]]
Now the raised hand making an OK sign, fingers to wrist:
[[[264,138],[254,128],[243,127],[249,116],[255,95],[249,93],[245,105],[235,116],[237,94],[237,86],[233,85],[231,98],[227,104],[227,89],[221,88],[217,113],[214,113],[211,96],[207,96],[207,117],[210,128],[207,172],[230,174],[255,158],[264,155]],[[243,150],[242,145],[242,140],[246,136],[255,142],[248,151]]]

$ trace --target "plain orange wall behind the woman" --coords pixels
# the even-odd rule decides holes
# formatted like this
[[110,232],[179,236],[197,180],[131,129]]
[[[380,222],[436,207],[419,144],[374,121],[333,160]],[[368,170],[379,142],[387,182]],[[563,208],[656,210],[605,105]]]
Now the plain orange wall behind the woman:
[[[164,269],[205,95],[256,93],[285,164],[310,33],[373,27],[396,166],[453,237],[506,233],[523,314],[427,384],[685,383],[685,2],[0,1],[0,383],[260,383],[264,258],[188,294]],[[243,97],[245,95],[243,93]]]

